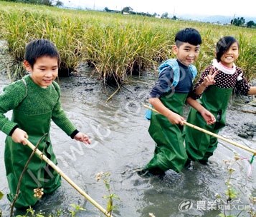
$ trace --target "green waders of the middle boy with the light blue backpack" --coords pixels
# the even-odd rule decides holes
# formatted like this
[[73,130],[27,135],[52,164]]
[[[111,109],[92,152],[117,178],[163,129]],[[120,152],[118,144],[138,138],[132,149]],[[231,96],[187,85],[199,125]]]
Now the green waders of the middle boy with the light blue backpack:
[[[182,116],[187,94],[169,94],[161,97],[164,106]],[[187,160],[184,148],[183,126],[172,124],[165,116],[152,112],[148,132],[156,142],[153,158],[146,165],[149,171],[180,172]]]

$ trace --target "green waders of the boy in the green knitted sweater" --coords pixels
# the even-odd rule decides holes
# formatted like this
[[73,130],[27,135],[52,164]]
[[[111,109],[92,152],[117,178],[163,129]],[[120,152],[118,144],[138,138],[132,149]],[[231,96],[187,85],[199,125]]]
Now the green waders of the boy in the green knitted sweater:
[[[29,116],[24,113],[19,113],[19,111],[14,109],[12,121],[18,123],[19,128],[22,128],[28,133],[29,141],[36,145],[44,133],[49,133],[51,116],[52,112]],[[51,161],[55,164],[57,163],[56,156],[52,151],[49,134],[48,138],[44,138],[38,148]],[[14,143],[11,136],[7,136],[4,161],[10,189],[7,198],[11,202],[14,200],[16,194],[19,176],[31,153],[32,149],[29,148],[29,146],[24,146],[22,143]],[[51,166],[34,154],[27,171],[22,178],[19,196],[14,206],[16,208],[24,208],[33,206],[37,203],[39,199],[34,197],[34,188],[44,188],[44,193],[52,193],[60,187],[60,185],[60,175],[54,171]]]

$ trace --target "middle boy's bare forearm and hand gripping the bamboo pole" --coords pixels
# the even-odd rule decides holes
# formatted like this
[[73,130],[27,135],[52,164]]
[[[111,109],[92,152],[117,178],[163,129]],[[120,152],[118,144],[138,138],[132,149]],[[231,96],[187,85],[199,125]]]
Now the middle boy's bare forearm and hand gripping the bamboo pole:
[[180,116],[178,113],[174,113],[170,109],[167,109],[166,106],[163,105],[163,103],[158,98],[150,98],[149,103],[163,116],[166,116],[166,118],[169,119],[169,121],[173,124],[184,124],[185,119]]

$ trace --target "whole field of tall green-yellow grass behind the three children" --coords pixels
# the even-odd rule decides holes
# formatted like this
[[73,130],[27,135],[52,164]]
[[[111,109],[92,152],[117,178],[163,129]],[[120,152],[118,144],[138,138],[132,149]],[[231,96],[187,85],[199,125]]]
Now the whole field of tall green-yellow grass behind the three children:
[[174,56],[171,47],[176,31],[194,27],[203,39],[196,62],[199,71],[214,58],[219,38],[232,35],[240,41],[237,65],[248,79],[255,78],[256,29],[4,1],[0,1],[0,19],[0,37],[8,41],[16,61],[22,61],[24,46],[30,40],[53,41],[62,58],[60,75],[69,74],[81,61],[94,66],[107,82],[121,83],[128,74],[156,71],[161,61]]

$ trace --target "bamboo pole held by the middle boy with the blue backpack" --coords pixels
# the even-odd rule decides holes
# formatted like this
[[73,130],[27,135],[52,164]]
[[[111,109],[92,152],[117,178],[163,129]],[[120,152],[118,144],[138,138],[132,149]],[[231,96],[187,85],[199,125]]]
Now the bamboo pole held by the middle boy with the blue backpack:
[[[156,109],[151,108],[150,106],[144,105],[144,107],[146,107],[147,109],[151,109],[152,111],[155,111],[156,113],[160,113],[159,111],[157,111]],[[161,113],[160,113],[160,114],[161,114]],[[219,135],[216,134],[216,133],[212,133],[211,131],[207,131],[207,130],[205,130],[204,128],[200,128],[199,126],[195,126],[195,125],[193,125],[193,124],[191,124],[191,123],[188,123],[188,122],[186,122],[186,121],[184,121],[184,124],[185,124],[186,126],[191,127],[191,128],[195,128],[195,129],[198,130],[198,131],[202,131],[203,133],[207,133],[207,134],[209,134],[209,135],[211,135],[211,136],[214,136],[214,137],[216,137],[216,138],[219,138],[219,139],[221,139],[222,141],[226,141],[227,143],[230,143],[230,144],[232,144],[233,146],[237,146],[237,147],[239,147],[239,148],[245,149],[246,151],[250,151],[251,153],[253,153],[253,155],[256,156],[256,150],[254,150],[254,149],[252,149],[252,148],[249,148],[249,147],[247,147],[247,146],[243,146],[243,145],[241,145],[240,143],[234,142],[234,141],[232,141],[232,140],[230,140],[230,139],[228,139],[228,138],[224,138],[223,136],[219,136]]]

